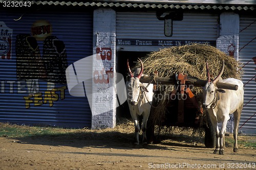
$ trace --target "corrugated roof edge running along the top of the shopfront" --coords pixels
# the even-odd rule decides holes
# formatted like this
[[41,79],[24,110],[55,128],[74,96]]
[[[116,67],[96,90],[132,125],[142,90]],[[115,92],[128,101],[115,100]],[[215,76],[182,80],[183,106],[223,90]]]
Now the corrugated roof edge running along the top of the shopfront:
[[[2,2],[2,0],[1,0]],[[145,9],[201,9],[201,10],[239,10],[253,11],[256,8],[255,1],[214,1],[214,0],[191,0],[191,1],[32,1],[37,5],[67,5],[67,6],[86,6],[86,7],[129,7]]]

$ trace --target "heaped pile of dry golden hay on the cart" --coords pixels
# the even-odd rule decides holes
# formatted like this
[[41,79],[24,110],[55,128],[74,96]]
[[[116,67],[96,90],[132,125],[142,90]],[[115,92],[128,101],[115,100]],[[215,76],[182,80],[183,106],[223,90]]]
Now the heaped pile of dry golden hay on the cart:
[[[141,60],[144,64],[144,74],[146,75],[150,75],[155,70],[158,71],[159,77],[170,77],[173,74],[183,72],[188,74],[188,76],[207,80],[206,61],[208,61],[210,74],[216,77],[222,68],[224,60],[223,79],[241,79],[242,76],[241,64],[236,59],[227,56],[216,47],[204,44],[189,44],[164,48],[158,52],[149,54]],[[140,67],[140,63],[136,63],[135,67]],[[161,93],[164,95],[172,91],[173,86],[164,85],[164,88],[160,87],[159,89],[162,90]],[[201,88],[195,87],[191,91],[196,95],[197,101],[201,103]],[[158,109],[156,109],[155,113],[157,117],[161,117],[165,112],[165,105],[166,101],[160,101],[158,103]]]

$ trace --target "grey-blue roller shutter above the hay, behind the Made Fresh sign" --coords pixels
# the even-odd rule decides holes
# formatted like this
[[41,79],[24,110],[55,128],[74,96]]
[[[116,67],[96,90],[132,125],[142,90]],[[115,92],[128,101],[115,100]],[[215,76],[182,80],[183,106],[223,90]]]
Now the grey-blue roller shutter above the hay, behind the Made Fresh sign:
[[[164,21],[157,19],[156,12],[117,12],[117,50],[152,51],[163,46],[179,45],[180,41],[208,41],[211,45],[216,45],[218,19],[217,14],[184,13],[182,21],[173,21],[173,36],[166,37]],[[146,40],[152,43],[140,46],[136,42],[129,44],[131,40]]]

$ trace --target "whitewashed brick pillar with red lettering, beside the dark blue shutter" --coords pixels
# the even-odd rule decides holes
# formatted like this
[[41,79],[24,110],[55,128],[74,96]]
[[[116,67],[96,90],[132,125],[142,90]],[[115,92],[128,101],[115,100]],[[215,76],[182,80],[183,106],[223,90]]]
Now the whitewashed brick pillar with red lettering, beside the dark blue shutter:
[[[116,125],[115,85],[113,85],[115,82],[114,78],[108,79],[106,75],[106,71],[116,71],[115,31],[116,12],[110,8],[94,10],[93,54],[97,54],[97,57],[93,59],[92,129],[114,128]],[[96,80],[95,76],[104,80]]]

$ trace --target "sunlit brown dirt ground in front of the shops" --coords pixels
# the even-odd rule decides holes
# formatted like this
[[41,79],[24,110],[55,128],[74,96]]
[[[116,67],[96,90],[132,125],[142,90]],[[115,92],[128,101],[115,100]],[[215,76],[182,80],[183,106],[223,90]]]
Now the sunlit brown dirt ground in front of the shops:
[[[190,139],[174,137],[135,147],[133,134],[120,130],[75,133],[1,137],[0,169],[256,169],[256,151],[248,147],[233,153],[229,144],[225,155],[218,155]],[[256,141],[256,136],[246,140]]]

